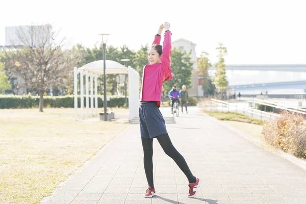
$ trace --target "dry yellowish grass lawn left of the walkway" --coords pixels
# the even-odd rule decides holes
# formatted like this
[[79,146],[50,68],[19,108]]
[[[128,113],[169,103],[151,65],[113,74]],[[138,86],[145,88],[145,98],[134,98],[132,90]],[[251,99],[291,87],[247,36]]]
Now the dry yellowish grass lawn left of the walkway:
[[74,121],[73,109],[0,110],[0,203],[39,202],[127,125]]

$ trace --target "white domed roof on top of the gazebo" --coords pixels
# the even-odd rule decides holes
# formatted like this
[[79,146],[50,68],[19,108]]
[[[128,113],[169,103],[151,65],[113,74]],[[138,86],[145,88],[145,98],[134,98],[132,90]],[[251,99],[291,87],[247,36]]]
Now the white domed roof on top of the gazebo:
[[[103,60],[93,61],[88,64],[85,64],[79,69],[82,69],[83,71],[88,71],[90,73],[103,74],[104,73],[103,62],[104,62]],[[127,67],[123,66],[119,62],[106,60],[106,74],[116,74],[116,73],[121,73],[121,74],[128,73]]]

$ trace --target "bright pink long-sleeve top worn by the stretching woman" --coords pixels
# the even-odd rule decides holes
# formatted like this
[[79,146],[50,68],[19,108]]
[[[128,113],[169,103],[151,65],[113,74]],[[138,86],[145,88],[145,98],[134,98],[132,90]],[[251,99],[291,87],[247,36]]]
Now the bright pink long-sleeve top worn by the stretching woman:
[[[161,63],[148,64],[143,67],[142,86],[139,101],[160,101],[164,81],[172,79],[170,68],[171,32],[164,34],[163,54]],[[155,36],[152,44],[160,44],[161,36]]]

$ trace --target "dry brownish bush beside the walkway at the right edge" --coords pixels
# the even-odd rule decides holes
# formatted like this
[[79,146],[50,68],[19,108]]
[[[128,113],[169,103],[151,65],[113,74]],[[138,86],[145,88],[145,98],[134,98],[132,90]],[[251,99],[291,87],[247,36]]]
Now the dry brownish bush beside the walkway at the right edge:
[[296,157],[306,158],[306,124],[303,116],[284,111],[264,124],[265,140]]

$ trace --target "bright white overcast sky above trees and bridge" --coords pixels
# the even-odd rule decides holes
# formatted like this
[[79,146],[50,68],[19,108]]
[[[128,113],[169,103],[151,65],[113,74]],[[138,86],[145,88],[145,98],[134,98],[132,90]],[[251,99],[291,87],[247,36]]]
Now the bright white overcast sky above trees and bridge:
[[108,45],[138,50],[168,21],[172,40],[196,43],[197,57],[206,51],[212,63],[222,42],[226,64],[306,64],[305,1],[4,0],[1,8],[1,45],[6,26],[51,23],[69,46],[93,47],[110,33]]

